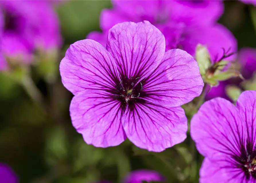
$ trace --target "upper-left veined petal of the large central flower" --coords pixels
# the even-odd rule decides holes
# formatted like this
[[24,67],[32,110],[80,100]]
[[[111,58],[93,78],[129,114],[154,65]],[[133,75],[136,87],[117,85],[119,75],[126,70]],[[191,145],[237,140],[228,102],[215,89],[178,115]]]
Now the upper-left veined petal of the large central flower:
[[69,47],[60,62],[60,75],[63,85],[74,95],[84,89],[108,91],[120,82],[113,57],[101,44],[90,39]]

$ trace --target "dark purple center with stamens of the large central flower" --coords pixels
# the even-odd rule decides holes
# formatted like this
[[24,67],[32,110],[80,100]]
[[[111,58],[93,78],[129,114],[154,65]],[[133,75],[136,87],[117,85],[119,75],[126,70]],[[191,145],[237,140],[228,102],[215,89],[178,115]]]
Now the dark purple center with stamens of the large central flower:
[[141,99],[146,95],[143,92],[143,81],[140,81],[140,77],[122,76],[120,83],[116,83],[116,89],[112,90],[116,100],[119,100],[122,109],[130,108],[134,109],[136,103],[143,103],[145,100]]

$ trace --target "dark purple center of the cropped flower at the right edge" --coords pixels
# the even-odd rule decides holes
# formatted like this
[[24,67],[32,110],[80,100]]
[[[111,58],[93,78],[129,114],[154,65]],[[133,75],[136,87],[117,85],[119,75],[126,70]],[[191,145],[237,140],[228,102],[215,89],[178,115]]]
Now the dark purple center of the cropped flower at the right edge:
[[245,173],[245,178],[249,180],[251,177],[256,180],[256,148],[247,140],[247,145],[241,146],[240,156],[233,157],[237,162],[237,168],[241,168]]

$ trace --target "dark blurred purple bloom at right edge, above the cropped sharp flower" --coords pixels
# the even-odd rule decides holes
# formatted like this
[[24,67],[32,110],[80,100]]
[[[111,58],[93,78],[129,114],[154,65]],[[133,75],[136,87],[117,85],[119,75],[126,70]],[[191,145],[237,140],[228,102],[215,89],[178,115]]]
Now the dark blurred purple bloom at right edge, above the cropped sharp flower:
[[249,79],[256,71],[256,49],[243,48],[239,51],[239,63],[242,66],[243,77]]

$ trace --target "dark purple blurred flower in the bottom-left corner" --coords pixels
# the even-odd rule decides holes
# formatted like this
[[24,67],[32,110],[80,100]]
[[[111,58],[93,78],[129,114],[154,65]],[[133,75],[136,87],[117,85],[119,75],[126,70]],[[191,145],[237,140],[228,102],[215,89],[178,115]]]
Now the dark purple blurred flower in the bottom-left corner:
[[0,162],[0,182],[18,183],[18,177],[13,170],[6,164]]

